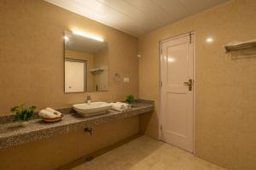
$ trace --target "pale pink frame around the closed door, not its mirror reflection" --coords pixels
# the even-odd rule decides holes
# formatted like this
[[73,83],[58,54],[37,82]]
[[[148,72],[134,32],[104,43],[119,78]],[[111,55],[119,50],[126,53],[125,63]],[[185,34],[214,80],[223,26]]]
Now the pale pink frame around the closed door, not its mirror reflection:
[[195,89],[196,89],[196,81],[195,81],[195,31],[189,31],[189,32],[185,32],[183,34],[179,34],[177,36],[172,36],[172,37],[168,37],[165,39],[162,39],[159,41],[159,136],[158,139],[159,140],[163,140],[162,139],[162,131],[161,131],[161,125],[162,125],[162,118],[163,118],[163,108],[161,105],[161,59],[162,59],[162,55],[161,55],[161,50],[162,50],[162,43],[163,42],[167,42],[167,41],[171,41],[180,37],[185,37],[185,36],[189,36],[191,35],[193,38],[191,38],[191,41],[193,42],[193,154],[195,155]]

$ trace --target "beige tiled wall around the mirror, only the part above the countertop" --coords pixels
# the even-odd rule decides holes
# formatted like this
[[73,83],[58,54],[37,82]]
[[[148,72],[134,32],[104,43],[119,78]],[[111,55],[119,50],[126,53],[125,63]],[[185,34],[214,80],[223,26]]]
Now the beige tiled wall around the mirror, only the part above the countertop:
[[[68,12],[43,0],[0,2],[0,115],[20,103],[63,108],[85,101],[86,93],[64,94],[65,30],[79,29],[108,42],[109,90],[92,99],[115,101],[138,93],[137,38]],[[113,75],[130,77],[116,83]]]

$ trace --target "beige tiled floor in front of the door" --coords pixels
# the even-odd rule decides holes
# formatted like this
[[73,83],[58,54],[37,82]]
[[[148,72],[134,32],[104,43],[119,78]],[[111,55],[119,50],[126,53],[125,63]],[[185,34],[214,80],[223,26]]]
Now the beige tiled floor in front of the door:
[[224,170],[147,136],[110,150],[73,170]]

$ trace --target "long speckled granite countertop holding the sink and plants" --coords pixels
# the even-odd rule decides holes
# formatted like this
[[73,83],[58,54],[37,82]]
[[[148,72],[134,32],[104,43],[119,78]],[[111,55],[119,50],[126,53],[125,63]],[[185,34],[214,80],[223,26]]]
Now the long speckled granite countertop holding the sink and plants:
[[[0,149],[32,142],[38,139],[48,138],[56,134],[68,133],[72,130],[98,125],[104,122],[124,119],[125,117],[135,116],[138,114],[154,111],[154,103],[137,102],[132,105],[130,111],[113,111],[109,110],[107,114],[84,117],[75,113],[71,109],[60,110],[64,116],[60,122],[44,122],[40,118],[29,121],[27,127],[20,127],[18,122],[7,122],[0,124]],[[1,118],[1,117],[0,117]],[[6,119],[6,116],[4,117]]]

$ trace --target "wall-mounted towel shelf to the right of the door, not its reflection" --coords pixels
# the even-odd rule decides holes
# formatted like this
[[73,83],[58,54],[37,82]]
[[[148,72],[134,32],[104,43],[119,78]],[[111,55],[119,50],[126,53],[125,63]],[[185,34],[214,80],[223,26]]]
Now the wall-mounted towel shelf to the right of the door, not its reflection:
[[230,42],[229,44],[225,45],[224,48],[226,49],[226,53],[247,48],[256,48],[256,40],[247,42]]

